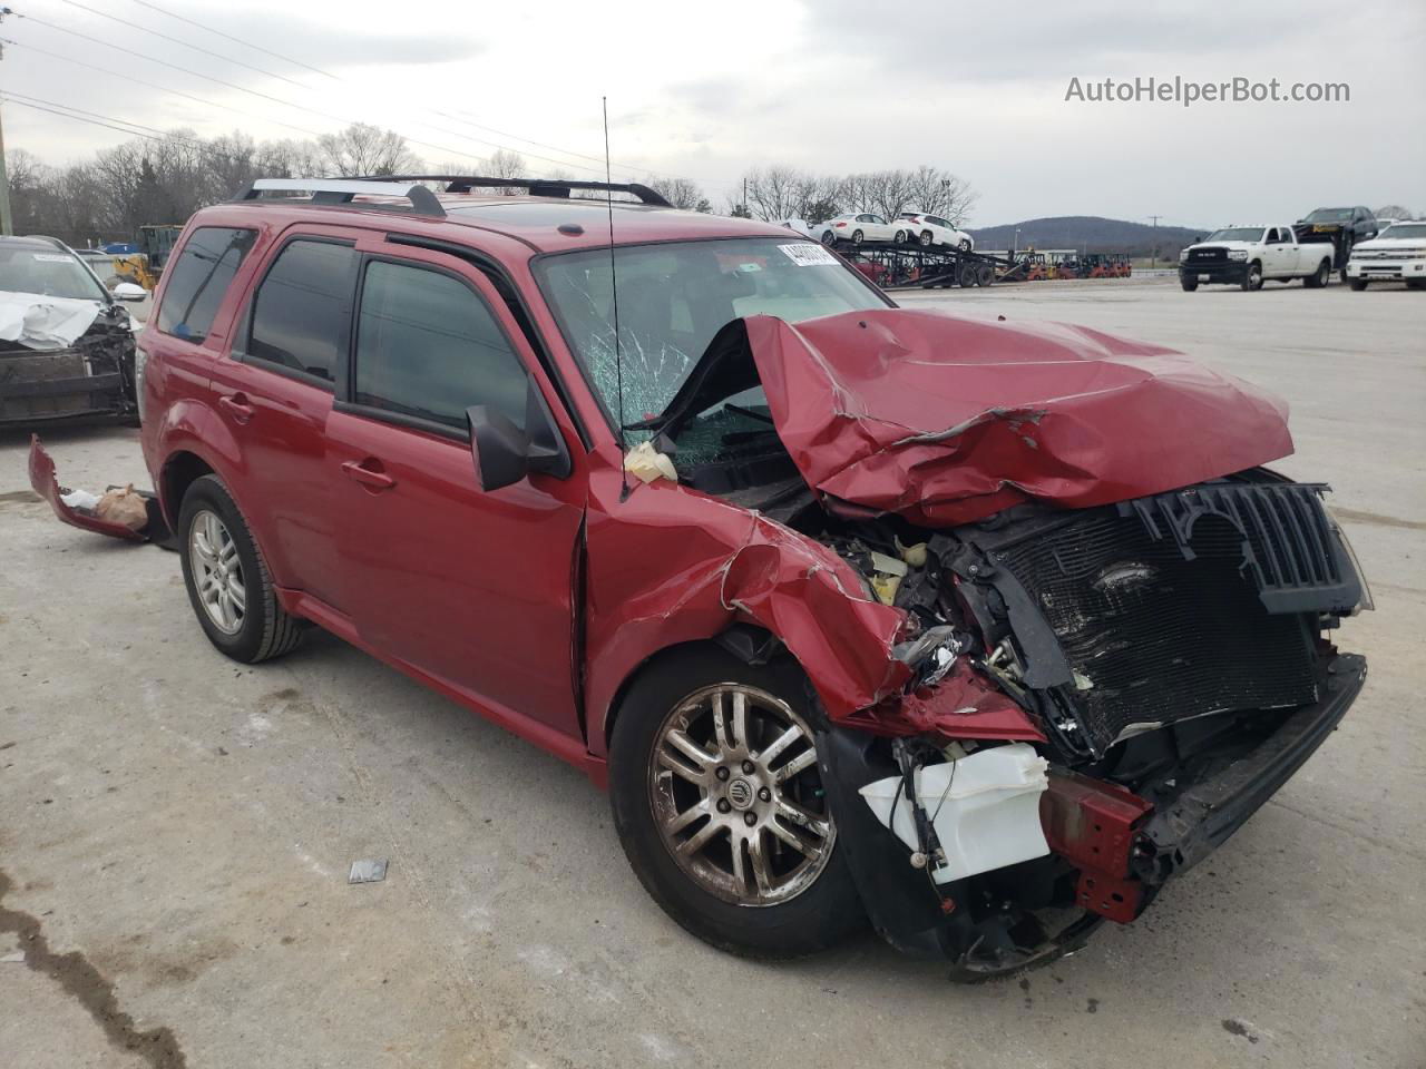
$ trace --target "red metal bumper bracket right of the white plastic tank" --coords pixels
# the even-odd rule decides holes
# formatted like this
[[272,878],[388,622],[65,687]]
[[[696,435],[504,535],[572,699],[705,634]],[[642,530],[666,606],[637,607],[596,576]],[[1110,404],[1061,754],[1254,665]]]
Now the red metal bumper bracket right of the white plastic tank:
[[1144,884],[1129,875],[1135,828],[1154,807],[1115,784],[1051,773],[1040,797],[1050,849],[1079,868],[1079,905],[1128,924],[1144,907]]

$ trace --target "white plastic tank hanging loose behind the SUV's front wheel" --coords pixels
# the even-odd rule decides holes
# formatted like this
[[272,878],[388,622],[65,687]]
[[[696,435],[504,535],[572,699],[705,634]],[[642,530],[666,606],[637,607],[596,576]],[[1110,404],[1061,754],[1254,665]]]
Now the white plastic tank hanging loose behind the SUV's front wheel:
[[[915,797],[931,818],[944,858],[933,858],[937,884],[1041,858],[1050,852],[1040,825],[1040,795],[1050,787],[1050,763],[1028,743],[977,750],[970,757],[923,765]],[[891,775],[861,788],[861,797],[884,825],[911,849],[915,817]]]

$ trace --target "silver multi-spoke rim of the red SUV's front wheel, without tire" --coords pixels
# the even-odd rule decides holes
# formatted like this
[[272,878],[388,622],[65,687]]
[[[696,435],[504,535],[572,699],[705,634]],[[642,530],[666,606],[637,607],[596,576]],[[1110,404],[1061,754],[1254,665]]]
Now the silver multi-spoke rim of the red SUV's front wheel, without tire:
[[663,845],[724,902],[796,898],[837,835],[816,765],[811,731],[786,701],[737,683],[694,691],[669,711],[649,765]]

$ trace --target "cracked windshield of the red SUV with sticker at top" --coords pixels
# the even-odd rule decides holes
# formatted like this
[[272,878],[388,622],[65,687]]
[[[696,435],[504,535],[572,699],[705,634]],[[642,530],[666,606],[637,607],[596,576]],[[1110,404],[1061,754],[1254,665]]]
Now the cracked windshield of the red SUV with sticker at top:
[[[816,242],[736,238],[626,245],[615,257],[619,361],[609,249],[548,257],[536,274],[570,349],[610,413],[619,409],[617,372],[623,365],[623,423],[660,415],[730,319],[776,315],[796,324],[890,304]],[[766,409],[761,388],[729,401],[739,409]],[[727,415],[771,429],[761,412]]]

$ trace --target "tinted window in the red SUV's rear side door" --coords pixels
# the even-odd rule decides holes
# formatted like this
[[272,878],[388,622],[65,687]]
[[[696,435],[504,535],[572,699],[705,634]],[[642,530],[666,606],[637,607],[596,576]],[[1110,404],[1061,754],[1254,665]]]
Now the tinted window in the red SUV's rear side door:
[[345,362],[356,251],[294,241],[278,252],[252,301],[248,356],[327,382]]

